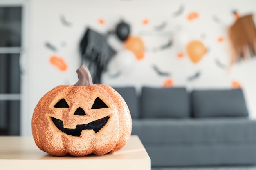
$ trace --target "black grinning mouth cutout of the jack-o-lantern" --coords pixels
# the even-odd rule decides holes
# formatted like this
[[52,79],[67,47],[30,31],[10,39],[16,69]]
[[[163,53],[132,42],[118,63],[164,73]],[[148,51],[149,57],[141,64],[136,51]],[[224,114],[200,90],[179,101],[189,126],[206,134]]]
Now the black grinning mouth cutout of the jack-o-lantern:
[[75,129],[68,129],[63,127],[63,121],[56,119],[54,117],[52,118],[52,122],[55,124],[55,126],[61,130],[61,132],[67,134],[67,135],[72,135],[72,136],[80,136],[82,130],[85,129],[92,129],[95,133],[99,132],[103,126],[106,125],[108,122],[108,119],[110,118],[109,116],[106,116],[102,119],[98,119],[95,121],[92,121],[91,123],[88,124],[82,124],[82,125],[76,125]]

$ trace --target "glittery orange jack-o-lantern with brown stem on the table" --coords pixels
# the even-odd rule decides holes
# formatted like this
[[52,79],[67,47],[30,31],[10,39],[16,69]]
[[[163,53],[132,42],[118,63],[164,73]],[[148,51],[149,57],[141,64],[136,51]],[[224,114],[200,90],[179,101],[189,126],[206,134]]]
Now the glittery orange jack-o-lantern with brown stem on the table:
[[124,99],[108,85],[93,84],[85,66],[73,86],[60,85],[36,105],[32,134],[41,150],[56,156],[103,155],[123,148],[131,135]]

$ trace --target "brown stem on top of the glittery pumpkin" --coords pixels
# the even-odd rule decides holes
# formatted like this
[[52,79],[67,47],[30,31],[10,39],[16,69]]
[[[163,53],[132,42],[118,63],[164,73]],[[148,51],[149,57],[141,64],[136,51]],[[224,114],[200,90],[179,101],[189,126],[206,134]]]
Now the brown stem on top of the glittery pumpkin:
[[92,83],[92,75],[85,65],[80,66],[76,73],[78,75],[78,82],[74,86],[90,86]]

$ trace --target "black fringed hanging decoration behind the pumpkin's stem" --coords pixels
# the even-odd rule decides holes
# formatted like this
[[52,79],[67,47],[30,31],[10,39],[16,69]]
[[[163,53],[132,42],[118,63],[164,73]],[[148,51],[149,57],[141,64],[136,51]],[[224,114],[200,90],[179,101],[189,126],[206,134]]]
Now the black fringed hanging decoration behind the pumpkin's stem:
[[115,55],[104,35],[87,28],[80,42],[82,64],[88,65],[94,84],[101,84],[101,75],[106,71],[110,59]]

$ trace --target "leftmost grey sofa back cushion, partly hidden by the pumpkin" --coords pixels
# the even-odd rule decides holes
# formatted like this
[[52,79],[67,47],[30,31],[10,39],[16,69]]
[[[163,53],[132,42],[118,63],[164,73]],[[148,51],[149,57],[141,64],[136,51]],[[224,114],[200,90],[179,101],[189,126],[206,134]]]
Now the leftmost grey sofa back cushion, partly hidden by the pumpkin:
[[137,108],[137,96],[136,90],[134,87],[113,87],[123,98],[126,102],[132,118],[138,118],[139,112]]

